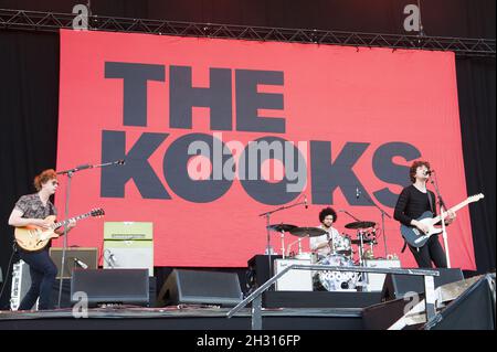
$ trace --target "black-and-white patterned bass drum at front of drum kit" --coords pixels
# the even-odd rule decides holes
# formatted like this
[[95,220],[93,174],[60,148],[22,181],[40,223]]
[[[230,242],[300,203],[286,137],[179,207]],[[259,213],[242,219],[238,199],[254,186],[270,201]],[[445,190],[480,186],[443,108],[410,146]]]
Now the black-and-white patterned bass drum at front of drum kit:
[[[353,266],[353,262],[342,255],[329,255],[319,260],[319,264],[343,267]],[[321,286],[327,291],[350,290],[356,289],[359,281],[359,273],[319,270],[317,278],[317,286]]]

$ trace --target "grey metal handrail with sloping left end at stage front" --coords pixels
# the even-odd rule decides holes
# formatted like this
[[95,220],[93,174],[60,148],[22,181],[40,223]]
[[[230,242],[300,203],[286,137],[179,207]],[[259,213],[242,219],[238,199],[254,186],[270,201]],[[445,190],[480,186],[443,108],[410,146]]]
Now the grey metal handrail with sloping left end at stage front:
[[371,273],[371,274],[398,274],[398,275],[415,275],[423,276],[424,279],[424,292],[425,292],[425,314],[426,321],[430,321],[435,317],[435,281],[434,276],[440,276],[440,271],[431,269],[389,269],[389,268],[370,268],[370,267],[343,267],[343,266],[329,266],[329,265],[299,265],[294,264],[286,267],[283,271],[273,276],[255,291],[248,295],[243,301],[233,307],[226,317],[231,318],[246,305],[252,303],[252,330],[262,330],[262,294],[266,291],[277,279],[289,270],[331,270],[331,271],[352,271],[352,273]]

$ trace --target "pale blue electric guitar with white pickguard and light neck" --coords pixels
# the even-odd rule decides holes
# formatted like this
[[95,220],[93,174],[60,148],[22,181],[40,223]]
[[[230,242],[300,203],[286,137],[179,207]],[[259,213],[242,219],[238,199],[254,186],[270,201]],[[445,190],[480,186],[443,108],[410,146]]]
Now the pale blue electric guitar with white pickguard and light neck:
[[[464,202],[451,207],[448,211],[453,211],[454,213],[459,209],[466,206],[469,203],[474,203],[483,199],[484,195],[482,193],[469,196]],[[440,234],[442,232],[442,227],[435,227],[435,224],[438,223],[442,218],[445,218],[448,211],[445,211],[443,214],[433,217],[432,212],[424,212],[419,218],[416,218],[420,223],[423,223],[429,226],[429,231],[423,233],[415,226],[405,226],[401,225],[401,233],[404,237],[405,242],[408,242],[413,247],[422,247],[430,239],[431,236]]]

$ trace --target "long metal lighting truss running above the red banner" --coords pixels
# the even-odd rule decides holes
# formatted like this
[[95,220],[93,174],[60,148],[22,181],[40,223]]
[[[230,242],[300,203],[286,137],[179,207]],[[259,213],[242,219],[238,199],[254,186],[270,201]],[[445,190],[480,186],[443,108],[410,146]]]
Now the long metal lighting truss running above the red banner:
[[[72,29],[75,14],[0,9],[0,29],[59,31]],[[465,56],[495,57],[495,39],[380,34],[314,29],[283,29],[252,25],[194,23],[167,20],[91,15],[91,31],[148,33],[195,38],[235,39],[356,47],[451,51]]]

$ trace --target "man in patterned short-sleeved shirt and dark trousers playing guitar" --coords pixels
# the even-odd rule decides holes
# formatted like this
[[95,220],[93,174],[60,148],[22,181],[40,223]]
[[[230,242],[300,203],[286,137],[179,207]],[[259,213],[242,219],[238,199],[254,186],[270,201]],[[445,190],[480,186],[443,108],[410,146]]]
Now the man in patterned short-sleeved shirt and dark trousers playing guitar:
[[[9,225],[22,227],[35,225],[42,228],[49,228],[51,225],[44,218],[50,215],[56,215],[57,211],[50,196],[59,188],[57,175],[53,169],[44,170],[34,178],[34,188],[36,193],[23,195],[15,203],[9,217]],[[67,231],[75,226],[74,222],[67,225]],[[63,234],[63,228],[55,231]],[[57,275],[57,267],[49,256],[49,246],[40,252],[27,252],[18,248],[22,260],[30,266],[31,287],[19,306],[19,310],[31,309],[40,297],[39,310],[53,309],[51,302],[52,287]]]

